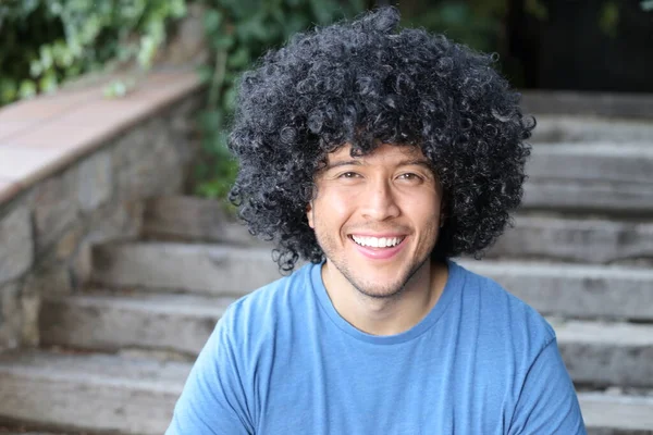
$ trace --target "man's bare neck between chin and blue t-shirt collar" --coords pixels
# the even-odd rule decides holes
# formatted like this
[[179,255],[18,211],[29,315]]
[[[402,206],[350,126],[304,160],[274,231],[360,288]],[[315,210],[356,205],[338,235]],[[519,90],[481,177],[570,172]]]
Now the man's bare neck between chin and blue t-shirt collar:
[[348,281],[334,278],[329,266],[325,263],[322,268],[322,281],[335,310],[357,330],[381,336],[406,332],[426,318],[438,303],[448,276],[446,264],[427,262],[399,294],[373,298]]

